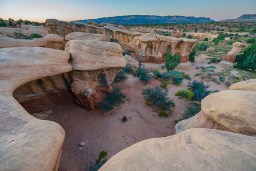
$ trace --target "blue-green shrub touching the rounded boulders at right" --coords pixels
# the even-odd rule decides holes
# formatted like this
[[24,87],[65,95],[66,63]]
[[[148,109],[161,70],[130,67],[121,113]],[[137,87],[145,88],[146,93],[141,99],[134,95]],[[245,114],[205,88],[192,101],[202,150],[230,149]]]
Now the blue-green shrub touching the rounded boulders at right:
[[218,89],[214,91],[207,90],[210,86],[209,85],[205,86],[204,82],[202,81],[194,80],[192,83],[189,82],[188,84],[189,84],[189,88],[194,94],[193,98],[195,100],[200,101],[200,103],[202,99],[204,99],[204,97],[208,96],[210,93],[218,92]]

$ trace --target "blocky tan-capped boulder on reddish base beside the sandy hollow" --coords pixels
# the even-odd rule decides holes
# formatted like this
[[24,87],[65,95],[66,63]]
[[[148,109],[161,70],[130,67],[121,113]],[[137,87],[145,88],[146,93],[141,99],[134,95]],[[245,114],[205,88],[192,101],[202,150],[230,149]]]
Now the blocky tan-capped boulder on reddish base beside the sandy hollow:
[[96,40],[70,40],[65,51],[70,52],[72,66],[77,70],[72,72],[74,82],[71,84],[76,102],[88,109],[99,107],[99,101],[103,100],[100,93],[111,89],[99,86],[110,86],[127,64],[120,45]]

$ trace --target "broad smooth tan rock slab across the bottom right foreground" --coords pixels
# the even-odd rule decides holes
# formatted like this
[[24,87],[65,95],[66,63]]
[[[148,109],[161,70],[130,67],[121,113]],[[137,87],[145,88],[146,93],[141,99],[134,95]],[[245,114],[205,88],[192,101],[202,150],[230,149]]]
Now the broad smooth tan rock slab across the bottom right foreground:
[[256,138],[188,129],[121,150],[100,170],[255,170]]

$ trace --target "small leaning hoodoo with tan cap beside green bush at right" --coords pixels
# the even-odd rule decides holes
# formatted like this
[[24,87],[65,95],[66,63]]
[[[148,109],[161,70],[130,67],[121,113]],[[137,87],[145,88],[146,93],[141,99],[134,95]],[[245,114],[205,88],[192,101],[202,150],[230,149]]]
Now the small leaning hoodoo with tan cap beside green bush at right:
[[233,48],[231,51],[227,52],[224,60],[222,60],[219,65],[226,68],[231,68],[234,66],[235,58],[241,52],[242,48],[248,47],[246,44],[241,42],[235,42],[232,44]]

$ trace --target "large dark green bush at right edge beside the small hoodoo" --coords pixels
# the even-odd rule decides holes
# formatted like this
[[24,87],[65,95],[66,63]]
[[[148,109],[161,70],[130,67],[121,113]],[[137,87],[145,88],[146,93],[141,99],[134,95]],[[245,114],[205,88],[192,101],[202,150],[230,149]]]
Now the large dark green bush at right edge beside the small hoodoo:
[[243,51],[243,54],[237,55],[234,67],[243,70],[251,69],[256,71],[256,44],[247,47],[245,51]]

